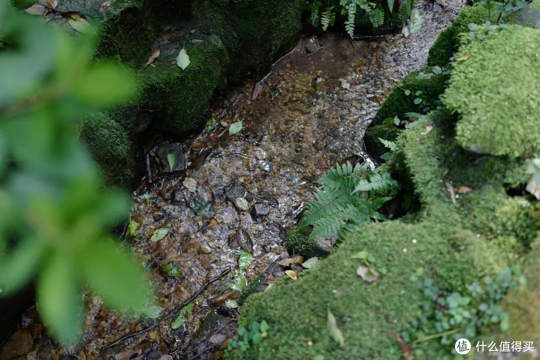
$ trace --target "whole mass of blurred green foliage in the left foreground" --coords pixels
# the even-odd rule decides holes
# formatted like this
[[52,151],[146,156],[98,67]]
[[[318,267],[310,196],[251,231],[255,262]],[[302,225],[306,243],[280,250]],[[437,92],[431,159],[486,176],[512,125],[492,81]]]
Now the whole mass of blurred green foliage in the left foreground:
[[107,305],[145,307],[149,291],[130,255],[109,239],[129,211],[105,189],[78,141],[81,120],[129,99],[130,71],[100,60],[95,38],[72,39],[0,3],[0,296],[36,279],[40,316],[57,339],[82,328],[81,290]]

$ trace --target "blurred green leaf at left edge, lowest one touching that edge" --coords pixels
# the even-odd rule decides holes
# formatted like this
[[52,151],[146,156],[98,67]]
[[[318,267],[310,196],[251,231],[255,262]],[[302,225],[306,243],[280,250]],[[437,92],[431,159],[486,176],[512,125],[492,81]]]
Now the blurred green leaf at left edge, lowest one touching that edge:
[[22,241],[14,252],[0,256],[0,293],[9,295],[20,289],[41,266],[45,243],[35,238]]

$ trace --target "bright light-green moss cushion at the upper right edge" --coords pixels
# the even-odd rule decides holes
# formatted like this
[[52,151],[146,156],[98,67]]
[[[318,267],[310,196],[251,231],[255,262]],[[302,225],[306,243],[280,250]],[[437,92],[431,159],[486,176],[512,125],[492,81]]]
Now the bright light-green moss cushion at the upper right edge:
[[457,141],[512,158],[540,150],[540,32],[514,25],[458,54],[470,58],[454,63],[443,100],[461,116]]

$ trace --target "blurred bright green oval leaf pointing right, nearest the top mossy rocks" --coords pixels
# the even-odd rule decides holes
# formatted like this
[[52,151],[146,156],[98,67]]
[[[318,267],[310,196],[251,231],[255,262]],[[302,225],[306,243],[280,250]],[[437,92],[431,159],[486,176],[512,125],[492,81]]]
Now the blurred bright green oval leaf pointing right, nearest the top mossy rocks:
[[91,105],[110,106],[129,99],[137,90],[133,72],[126,67],[101,62],[78,81],[75,89],[80,99]]

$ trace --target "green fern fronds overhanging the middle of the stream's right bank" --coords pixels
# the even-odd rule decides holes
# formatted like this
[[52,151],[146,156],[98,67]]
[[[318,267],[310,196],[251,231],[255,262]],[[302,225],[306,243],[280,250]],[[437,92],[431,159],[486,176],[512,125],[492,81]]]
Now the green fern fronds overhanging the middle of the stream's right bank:
[[310,239],[343,235],[349,226],[359,226],[372,219],[385,220],[379,209],[392,197],[382,195],[397,188],[390,174],[367,171],[367,165],[353,167],[349,162],[329,169],[316,182],[323,188],[316,189],[315,199],[307,202],[300,224],[314,225]]

